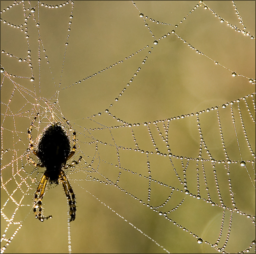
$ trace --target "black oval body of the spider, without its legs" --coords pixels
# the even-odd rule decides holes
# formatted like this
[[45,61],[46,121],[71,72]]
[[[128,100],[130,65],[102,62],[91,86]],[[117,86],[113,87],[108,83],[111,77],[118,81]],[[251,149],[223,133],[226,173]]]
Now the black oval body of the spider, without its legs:
[[70,154],[70,140],[60,125],[50,125],[38,144],[38,157],[46,168],[50,182],[58,183],[62,165]]

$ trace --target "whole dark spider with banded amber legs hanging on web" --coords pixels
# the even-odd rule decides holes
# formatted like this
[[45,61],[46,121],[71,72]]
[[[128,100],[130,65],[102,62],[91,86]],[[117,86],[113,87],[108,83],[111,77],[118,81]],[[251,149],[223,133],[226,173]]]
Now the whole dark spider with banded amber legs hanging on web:
[[44,217],[42,214],[42,199],[45,193],[46,184],[48,180],[50,184],[62,183],[69,204],[70,221],[73,221],[76,218],[76,198],[64,169],[73,167],[73,165],[78,164],[82,159],[82,156],[80,156],[78,161],[74,160],[71,164],[66,165],[67,160],[69,160],[76,151],[76,132],[71,127],[69,121],[63,117],[69,125],[70,131],[73,132],[72,150],[70,151],[70,140],[60,122],[53,122],[45,129],[42,135],[38,137],[38,139],[40,138],[38,142],[38,149],[35,150],[31,133],[33,124],[38,115],[39,113],[34,117],[28,129],[28,138],[30,143],[28,151],[31,151],[39,158],[39,163],[36,163],[29,154],[27,154],[27,161],[36,167],[45,167],[45,172],[40,179],[35,192],[33,211],[36,214],[35,217],[38,218],[39,221],[52,218],[52,215]]

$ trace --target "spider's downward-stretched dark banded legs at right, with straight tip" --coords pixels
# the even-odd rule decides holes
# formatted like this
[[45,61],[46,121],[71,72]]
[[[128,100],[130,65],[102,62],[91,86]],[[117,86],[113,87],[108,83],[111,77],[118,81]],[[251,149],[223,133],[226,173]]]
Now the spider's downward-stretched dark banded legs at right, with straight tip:
[[[67,179],[66,174],[64,173],[63,170],[61,170],[59,174],[59,179],[63,185],[64,192],[66,194],[67,200],[68,200],[68,205],[69,205],[69,215],[70,219],[69,221],[73,221],[76,218],[76,198],[75,194],[73,192],[73,189]],[[71,194],[71,196],[70,196]]]

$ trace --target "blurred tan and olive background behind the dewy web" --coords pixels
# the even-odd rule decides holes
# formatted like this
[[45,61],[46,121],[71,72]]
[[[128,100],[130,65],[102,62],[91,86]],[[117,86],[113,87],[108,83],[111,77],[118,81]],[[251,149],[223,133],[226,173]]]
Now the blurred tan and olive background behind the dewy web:
[[[32,6],[36,6],[36,3],[37,1],[31,1]],[[44,3],[56,5],[61,2],[44,1]],[[204,3],[223,19],[239,26],[231,1],[205,1]],[[1,1],[1,11],[10,4],[12,4],[11,1]],[[144,16],[147,15],[160,22],[174,25],[180,24],[180,20],[183,20],[183,17],[186,17],[196,4],[198,4],[198,1],[136,2],[137,7]],[[25,5],[26,8],[29,8],[27,1],[25,1]],[[247,30],[251,32],[251,35],[255,36],[255,1],[236,1],[236,6]],[[41,96],[48,99],[57,90],[60,90],[58,100],[61,111],[71,123],[75,123],[74,128],[76,131],[82,134],[88,135],[88,133],[83,132],[83,128],[99,127],[86,119],[86,117],[103,112],[105,109],[109,109],[112,115],[132,124],[153,122],[219,106],[255,91],[255,85],[251,85],[248,79],[239,76],[232,77],[231,72],[215,65],[207,57],[196,54],[194,50],[173,34],[161,39],[158,45],[154,45],[154,39],[131,2],[75,1],[70,32],[67,31],[67,28],[70,20],[71,4],[58,9],[40,6],[39,10],[40,34],[46,49],[45,54],[47,54],[50,64],[46,64],[44,52],[41,50],[41,92],[39,93],[37,86],[39,82],[37,64],[38,37],[35,22],[30,18],[27,26],[30,35],[36,95],[37,97]],[[1,17],[3,20],[14,24],[23,23],[22,5],[11,8],[1,14]],[[149,20],[147,22],[156,39],[173,30],[173,26],[152,23]],[[242,26],[240,25],[239,28],[242,28]],[[68,39],[63,73],[61,74],[68,33],[70,37]],[[214,17],[211,11],[203,8],[193,11],[176,28],[176,34],[230,70],[249,78],[255,78],[255,40],[249,39],[248,36],[243,36],[241,33],[236,33],[234,29],[227,27],[226,23],[220,23],[220,20]],[[26,57],[27,41],[24,37],[24,33],[19,29],[1,22],[1,50],[4,49],[5,52],[10,52],[21,58]],[[149,48],[145,48],[130,59],[124,60],[125,57],[129,57],[147,45],[149,45]],[[152,46],[154,48],[151,50]],[[151,54],[148,53],[150,50]],[[148,59],[142,65],[142,61],[146,56]],[[98,71],[119,60],[124,62],[86,81],[75,84],[75,82],[98,73]],[[12,74],[15,73],[17,76],[30,77],[31,75],[26,63],[19,63],[17,59],[11,59],[5,54],[1,54],[1,64],[6,71]],[[49,67],[51,68],[50,70]],[[137,73],[137,76],[134,76],[138,67],[141,67],[141,70]],[[61,75],[62,77],[60,78]],[[127,87],[126,84],[129,83],[132,77],[134,77],[133,82]],[[61,86],[59,88],[60,79]],[[15,81],[32,91],[34,89],[32,83],[28,82],[27,79],[15,79]],[[115,98],[118,97],[124,87],[126,91],[115,102]],[[3,103],[8,103],[12,89],[11,82],[6,80],[1,90],[1,101]],[[10,105],[13,111],[12,114],[16,113],[26,103],[19,93],[15,93],[15,96],[16,94],[17,97],[13,98]],[[35,99],[28,94],[25,94],[25,98],[28,103],[22,111],[32,110],[32,104],[35,103]],[[113,106],[109,107],[112,103]],[[246,113],[246,108],[243,105],[241,102],[242,112]],[[252,103],[250,106],[252,109]],[[2,105],[1,113],[5,114],[5,107]],[[8,112],[8,114],[11,114],[11,112]],[[27,116],[27,114],[23,115]],[[230,160],[240,160],[236,136],[234,132],[231,132],[233,126],[230,110],[220,108],[220,115]],[[237,122],[239,123],[237,112],[236,117],[238,117]],[[1,118],[3,118],[3,115],[1,115]],[[223,149],[221,142],[219,142],[220,136],[216,111],[202,114],[200,119],[208,149],[214,158],[224,160]],[[96,116],[93,120],[106,126],[120,124],[120,122],[108,117],[105,113],[102,113],[101,116]],[[13,130],[12,117],[7,117],[5,121],[5,128],[9,127]],[[23,154],[28,146],[26,131],[30,125],[30,120],[26,117],[15,117],[15,123],[17,125],[16,130],[21,132],[19,135],[22,137],[19,153]],[[161,143],[161,137],[158,137],[157,131],[153,126],[151,124],[150,128],[157,146],[159,150],[166,153],[167,149]],[[246,116],[245,126],[251,146],[255,150],[255,125],[251,124],[250,119],[246,118]],[[150,141],[146,127],[133,127],[133,130],[139,148],[155,152],[155,147]],[[136,148],[130,128],[119,128],[111,131],[117,146]],[[246,147],[242,130],[238,130],[238,133],[243,159],[253,160]],[[95,131],[92,135],[102,142],[113,144],[108,131]],[[198,156],[199,138],[195,116],[170,122],[168,135],[173,154],[187,157]],[[17,139],[16,135],[15,138]],[[36,132],[34,132],[34,138],[36,138]],[[89,138],[84,138],[81,134],[77,138],[83,154],[80,153],[89,162],[94,156],[95,147],[83,144],[83,142],[90,142]],[[12,147],[12,143],[5,143],[4,145],[4,149],[11,149]],[[15,145],[15,147],[17,149],[18,145]],[[99,145],[98,151],[101,160],[114,165],[118,163],[115,147]],[[145,153],[141,154],[126,150],[119,150],[119,153],[122,167],[133,172],[142,173],[142,175],[148,175]],[[9,162],[11,161],[11,155],[9,156],[5,157],[6,162],[8,160]],[[80,154],[76,154],[76,158],[79,156]],[[89,156],[89,158],[85,156]],[[205,151],[203,157],[208,158]],[[149,160],[152,178],[166,182],[169,185],[173,184],[174,187],[182,189],[173,174],[173,168],[167,157],[149,155]],[[178,166],[181,165],[179,160],[173,159],[173,161],[182,176],[181,166]],[[25,163],[26,160],[24,159],[23,162]],[[191,177],[191,181],[188,181],[188,185],[190,186],[190,192],[196,193],[196,165],[195,162],[190,163],[187,178],[190,179],[189,177]],[[97,161],[94,164],[95,168],[97,167],[96,164]],[[99,171],[114,181],[119,172],[119,169],[114,165],[101,163]],[[232,164],[232,166],[230,177],[233,183],[233,192],[236,193],[237,206],[241,211],[254,215],[255,190],[248,174],[245,171],[241,171],[241,167],[237,164]],[[82,168],[83,165],[79,167]],[[214,176],[210,163],[205,163],[205,168],[207,174],[209,174],[209,186],[213,188]],[[227,175],[223,173],[223,165],[222,167],[217,166],[217,168],[220,170],[221,192],[223,197],[228,200]],[[252,173],[251,167],[248,168]],[[164,216],[159,216],[156,212],[143,206],[116,187],[105,186],[98,182],[83,181],[86,178],[86,174],[78,169],[76,174],[69,175],[77,200],[77,216],[75,221],[71,223],[72,252],[165,253],[163,248],[158,247],[152,240],[143,236],[128,222],[172,253],[214,252],[214,249],[209,245],[198,244],[196,238],[188,232],[184,232],[164,219]],[[27,165],[25,170],[30,173],[33,167]],[[41,177],[43,170],[39,170],[39,172],[37,178]],[[255,178],[253,174],[251,176],[253,179]],[[145,178],[122,172],[119,184],[126,191],[147,202],[148,180],[145,180]],[[203,188],[203,185],[201,178],[201,188]],[[36,185],[34,188],[36,188]],[[52,188],[45,194],[43,199],[44,213],[45,215],[52,214],[53,218],[43,223],[34,218],[32,211],[28,214],[32,207],[34,191],[34,189],[30,190],[30,196],[26,200],[28,204],[31,202],[31,206],[26,208],[27,210],[20,208],[19,214],[17,213],[16,215],[17,220],[24,220],[24,218],[25,220],[23,227],[14,237],[6,253],[67,252],[67,206],[63,188],[61,186]],[[95,195],[100,202],[87,191]],[[214,193],[214,189],[212,189],[212,193]],[[169,188],[151,183],[152,206],[164,203],[169,195]],[[168,204],[170,209],[184,198],[184,194],[174,195],[176,196],[173,197],[173,203],[171,205]],[[202,196],[207,197],[203,190]],[[1,192],[1,208],[7,198],[8,196],[5,194],[2,196]],[[212,199],[218,200],[216,190]],[[102,205],[101,202],[105,203],[106,206]],[[107,206],[111,207],[115,212],[112,212]],[[232,206],[230,200],[229,202],[227,201],[227,206]],[[158,210],[161,211],[162,209],[164,212],[168,211],[168,208],[164,207]],[[8,216],[11,216],[12,212],[13,210]],[[115,213],[123,216],[128,222],[125,222]],[[225,229],[228,227],[228,216],[230,215],[228,212],[226,214]],[[201,200],[198,201],[192,197],[186,197],[186,202],[168,216],[204,240],[211,243],[216,242],[220,230],[222,209],[212,207],[205,202],[201,202]],[[2,235],[6,226],[6,222],[2,217],[1,222],[3,222],[1,223]],[[255,238],[254,227],[245,216],[235,214],[232,227],[227,247],[227,251],[231,253],[244,250]],[[13,231],[10,230],[10,232]],[[10,232],[8,231],[8,234],[11,234]],[[225,234],[223,233],[223,238],[226,238],[226,231]]]

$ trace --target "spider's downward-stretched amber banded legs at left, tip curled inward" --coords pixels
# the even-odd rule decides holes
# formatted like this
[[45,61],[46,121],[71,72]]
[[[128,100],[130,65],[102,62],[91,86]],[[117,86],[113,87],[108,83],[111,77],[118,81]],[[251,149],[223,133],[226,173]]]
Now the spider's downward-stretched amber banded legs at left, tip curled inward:
[[[48,220],[48,218],[52,218],[52,215],[44,217],[42,214],[42,199],[45,193],[45,187],[48,179],[49,177],[43,174],[35,193],[34,213],[36,214],[35,217],[39,219],[39,221],[44,221],[44,220]],[[37,209],[38,209],[38,212],[37,212]]]

